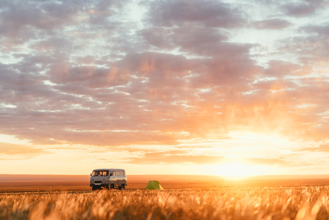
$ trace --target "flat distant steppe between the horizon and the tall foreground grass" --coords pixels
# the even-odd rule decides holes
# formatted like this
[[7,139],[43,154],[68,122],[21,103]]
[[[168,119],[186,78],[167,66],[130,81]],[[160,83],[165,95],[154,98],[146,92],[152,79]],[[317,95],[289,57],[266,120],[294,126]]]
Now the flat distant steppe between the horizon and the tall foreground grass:
[[[0,174],[0,192],[91,190],[90,175]],[[211,175],[127,175],[126,189],[143,189],[158,180],[165,189],[230,186],[327,185],[329,175],[261,175],[244,178]]]

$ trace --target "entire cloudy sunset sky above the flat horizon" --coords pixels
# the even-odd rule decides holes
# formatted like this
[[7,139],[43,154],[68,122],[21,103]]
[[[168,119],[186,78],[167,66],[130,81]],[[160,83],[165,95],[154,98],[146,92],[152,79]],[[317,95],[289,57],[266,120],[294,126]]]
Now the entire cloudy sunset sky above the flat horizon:
[[329,1],[0,1],[0,173],[329,173]]

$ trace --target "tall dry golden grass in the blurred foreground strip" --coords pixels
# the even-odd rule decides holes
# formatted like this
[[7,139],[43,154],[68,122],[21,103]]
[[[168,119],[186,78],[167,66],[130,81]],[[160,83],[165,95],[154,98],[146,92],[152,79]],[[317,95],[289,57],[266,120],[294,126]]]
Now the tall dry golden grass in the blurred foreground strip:
[[329,219],[329,186],[0,194],[0,219]]

